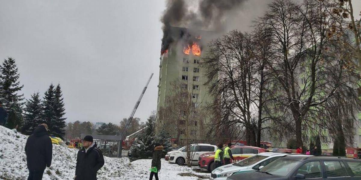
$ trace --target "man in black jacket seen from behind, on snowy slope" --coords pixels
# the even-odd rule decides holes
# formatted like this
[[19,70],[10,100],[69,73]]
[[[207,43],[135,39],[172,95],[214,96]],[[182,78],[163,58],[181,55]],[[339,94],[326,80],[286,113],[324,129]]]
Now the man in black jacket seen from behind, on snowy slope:
[[45,167],[50,167],[53,157],[53,144],[48,135],[48,125],[41,124],[27,138],[25,154],[29,177],[27,180],[41,180]]

